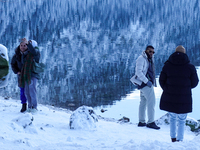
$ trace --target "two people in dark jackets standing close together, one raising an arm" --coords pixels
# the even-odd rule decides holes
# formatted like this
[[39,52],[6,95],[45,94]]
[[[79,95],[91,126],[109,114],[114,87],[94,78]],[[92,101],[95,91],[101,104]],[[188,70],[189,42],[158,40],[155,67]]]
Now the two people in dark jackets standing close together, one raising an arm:
[[25,112],[26,110],[29,112],[36,112],[36,84],[40,76],[33,72],[33,64],[34,62],[39,63],[40,52],[37,42],[34,40],[27,41],[26,38],[23,38],[20,39],[19,43],[12,57],[11,67],[18,77],[18,86],[20,88],[20,99],[22,103],[21,112]]

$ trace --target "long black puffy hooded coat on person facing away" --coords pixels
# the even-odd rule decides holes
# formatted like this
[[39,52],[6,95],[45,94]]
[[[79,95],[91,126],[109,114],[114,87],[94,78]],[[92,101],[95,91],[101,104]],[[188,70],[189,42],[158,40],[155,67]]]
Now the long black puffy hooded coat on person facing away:
[[160,109],[174,113],[192,112],[192,91],[199,82],[194,65],[185,53],[175,52],[165,62],[159,83],[163,89]]

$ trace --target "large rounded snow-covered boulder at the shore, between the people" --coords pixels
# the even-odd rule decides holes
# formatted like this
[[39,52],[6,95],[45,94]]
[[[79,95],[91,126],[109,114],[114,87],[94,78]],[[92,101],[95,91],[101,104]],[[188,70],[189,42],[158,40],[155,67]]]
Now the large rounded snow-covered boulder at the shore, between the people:
[[70,129],[95,129],[98,121],[92,107],[81,106],[70,116]]

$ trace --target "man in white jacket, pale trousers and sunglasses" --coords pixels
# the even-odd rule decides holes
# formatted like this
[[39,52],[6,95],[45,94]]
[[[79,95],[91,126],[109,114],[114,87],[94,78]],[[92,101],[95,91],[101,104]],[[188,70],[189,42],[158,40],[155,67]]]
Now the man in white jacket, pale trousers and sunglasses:
[[[148,127],[152,129],[160,129],[155,124],[155,67],[153,61],[154,47],[149,45],[142,55],[136,60],[135,75],[131,78],[131,82],[140,90],[139,105],[139,123],[138,127]],[[146,123],[146,109],[148,121]]]

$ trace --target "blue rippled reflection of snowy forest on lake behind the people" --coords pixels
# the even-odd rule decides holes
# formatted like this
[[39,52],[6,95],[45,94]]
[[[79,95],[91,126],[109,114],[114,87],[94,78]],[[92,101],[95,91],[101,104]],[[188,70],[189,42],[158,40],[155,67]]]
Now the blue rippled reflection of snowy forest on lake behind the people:
[[[155,47],[157,75],[179,44],[200,65],[198,0],[10,1],[0,5],[0,41],[10,57],[18,37],[38,41],[46,63],[41,103],[78,107],[120,100],[134,89],[129,79],[147,44]],[[19,97],[16,75],[9,80],[1,94]]]

